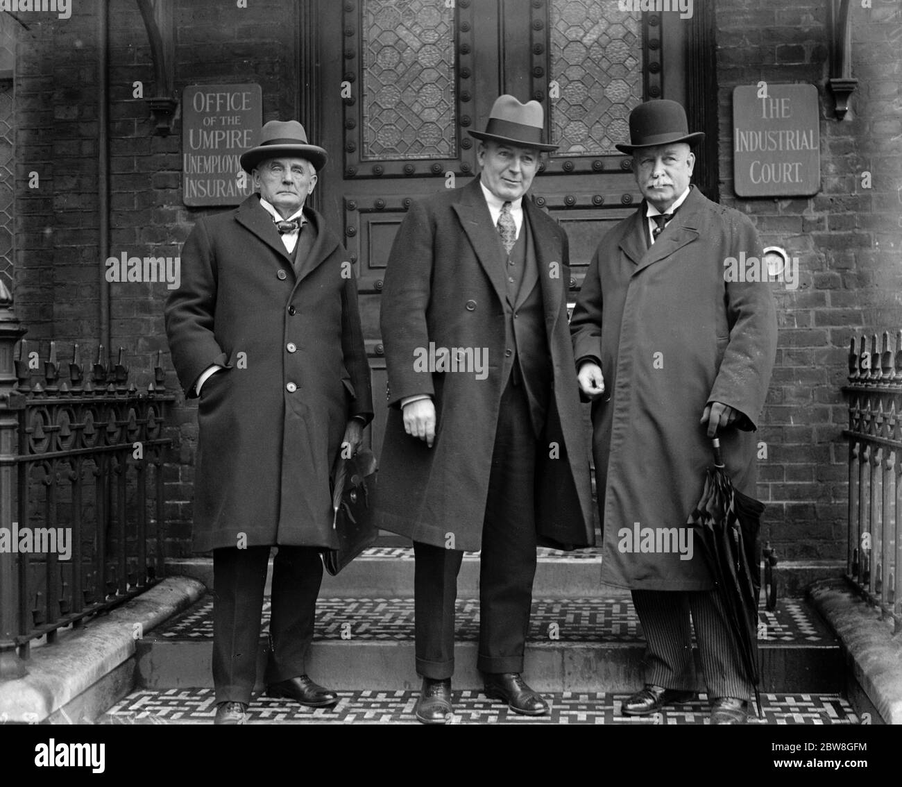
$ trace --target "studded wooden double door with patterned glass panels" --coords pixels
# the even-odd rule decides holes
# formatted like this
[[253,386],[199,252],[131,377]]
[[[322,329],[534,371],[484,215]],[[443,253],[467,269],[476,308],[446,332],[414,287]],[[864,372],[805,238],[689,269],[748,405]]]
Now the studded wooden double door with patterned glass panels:
[[[386,416],[379,332],[382,282],[410,202],[478,171],[476,142],[494,100],[545,108],[545,158],[530,196],[570,238],[571,300],[594,250],[641,199],[628,157],[630,110],[649,98],[684,102],[693,130],[716,140],[716,96],[704,80],[712,20],[622,11],[618,0],[322,0],[301,32],[301,117],[331,159],[314,205],[340,228],[359,273],[373,368],[379,451]],[[633,5],[633,4],[630,4]],[[708,4],[704,4],[708,5]],[[688,79],[687,79],[688,78]],[[705,97],[706,93],[712,95]],[[713,119],[710,118],[713,110]],[[713,148],[716,154],[716,147]],[[695,181],[711,193],[705,152]],[[714,156],[708,156],[715,161]]]

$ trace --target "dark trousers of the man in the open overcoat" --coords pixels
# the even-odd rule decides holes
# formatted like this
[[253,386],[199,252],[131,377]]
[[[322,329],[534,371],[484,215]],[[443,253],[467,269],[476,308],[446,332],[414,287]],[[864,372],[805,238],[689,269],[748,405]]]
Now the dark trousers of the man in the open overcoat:
[[[522,385],[509,384],[492,449],[479,571],[479,653],[483,672],[523,671],[536,574],[537,443]],[[447,532],[454,532],[449,522]],[[414,542],[417,672],[454,673],[457,573],[464,553]]]

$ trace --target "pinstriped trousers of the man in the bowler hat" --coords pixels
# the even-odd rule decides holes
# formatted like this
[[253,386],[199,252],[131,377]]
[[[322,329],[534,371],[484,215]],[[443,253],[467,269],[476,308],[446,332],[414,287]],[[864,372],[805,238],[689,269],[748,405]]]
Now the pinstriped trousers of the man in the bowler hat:
[[744,677],[730,620],[713,590],[633,590],[632,602],[648,643],[646,683],[665,689],[695,691],[698,683],[689,627],[691,613],[708,698],[750,698],[754,687]]

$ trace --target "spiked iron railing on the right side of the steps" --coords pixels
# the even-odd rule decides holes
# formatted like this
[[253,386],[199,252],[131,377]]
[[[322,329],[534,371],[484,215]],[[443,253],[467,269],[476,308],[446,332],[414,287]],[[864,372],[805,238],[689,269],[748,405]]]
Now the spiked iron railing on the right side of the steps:
[[[848,579],[902,631],[902,330],[849,347]],[[895,348],[893,347],[895,344]]]

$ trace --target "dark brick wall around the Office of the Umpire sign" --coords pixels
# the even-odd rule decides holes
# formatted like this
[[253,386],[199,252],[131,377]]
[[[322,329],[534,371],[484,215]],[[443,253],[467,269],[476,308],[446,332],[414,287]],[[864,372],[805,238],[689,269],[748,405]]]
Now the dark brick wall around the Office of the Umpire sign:
[[[296,116],[295,4],[253,0],[175,2],[175,91],[194,83],[256,81],[262,86],[263,120]],[[70,342],[97,351],[97,316],[103,260],[97,246],[97,2],[73,3],[72,16],[23,14],[16,74],[18,253],[15,308],[27,338],[56,338],[60,360]],[[110,3],[110,255],[177,256],[195,218],[204,212],[181,201],[180,124],[168,137],[152,134],[144,99],[133,82],[153,95],[154,75],[143,20],[134,2]],[[40,189],[28,188],[38,171]],[[162,307],[165,283],[110,285],[111,344],[124,347],[136,383],[152,381],[158,350],[170,368]],[[93,360],[93,358],[91,359]],[[175,375],[167,386],[179,389]],[[170,504],[170,554],[190,553],[196,408],[179,403],[169,436],[174,448],[166,468]]]

